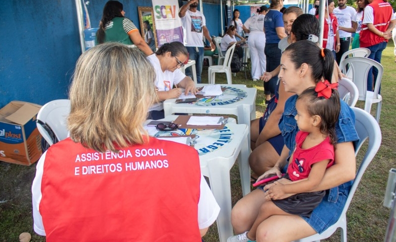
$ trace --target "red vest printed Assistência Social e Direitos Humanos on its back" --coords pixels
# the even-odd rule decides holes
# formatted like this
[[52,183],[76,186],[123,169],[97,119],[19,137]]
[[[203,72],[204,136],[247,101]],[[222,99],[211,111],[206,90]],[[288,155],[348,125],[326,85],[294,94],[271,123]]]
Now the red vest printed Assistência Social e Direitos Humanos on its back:
[[195,149],[149,143],[99,153],[70,138],[45,157],[39,211],[47,242],[201,241]]

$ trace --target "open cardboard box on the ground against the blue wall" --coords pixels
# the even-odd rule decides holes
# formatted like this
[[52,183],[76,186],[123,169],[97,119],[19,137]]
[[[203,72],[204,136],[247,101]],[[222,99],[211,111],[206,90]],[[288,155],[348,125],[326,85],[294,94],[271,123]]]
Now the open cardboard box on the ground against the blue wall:
[[40,105],[11,101],[0,109],[0,160],[30,165],[41,154],[36,116]]

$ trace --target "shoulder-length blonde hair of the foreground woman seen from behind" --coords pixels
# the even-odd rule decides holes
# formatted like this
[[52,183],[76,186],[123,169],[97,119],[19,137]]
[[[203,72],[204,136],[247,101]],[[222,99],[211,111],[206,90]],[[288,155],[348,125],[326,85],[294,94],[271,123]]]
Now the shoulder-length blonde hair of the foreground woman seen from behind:
[[100,152],[144,143],[154,80],[154,68],[136,48],[108,42],[84,52],[69,92],[71,139]]

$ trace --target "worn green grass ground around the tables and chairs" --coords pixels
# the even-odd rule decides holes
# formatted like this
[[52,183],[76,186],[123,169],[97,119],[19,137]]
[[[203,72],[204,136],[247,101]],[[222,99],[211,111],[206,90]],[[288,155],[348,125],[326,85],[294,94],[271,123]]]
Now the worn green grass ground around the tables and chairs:
[[[382,77],[382,109],[380,127],[381,147],[368,166],[347,212],[347,236],[349,241],[383,241],[390,210],[382,206],[388,171],[396,167],[396,63],[393,42],[389,42],[382,53],[384,67]],[[202,71],[202,82],[207,83],[207,67]],[[224,74],[216,74],[216,83],[226,83]],[[232,77],[234,84],[246,84],[257,88],[256,116],[262,115],[265,106],[261,81],[244,79],[244,72]],[[363,103],[358,101],[358,107]],[[375,104],[371,110],[375,115]],[[363,147],[364,148],[364,147]],[[357,161],[361,156],[357,157]],[[18,241],[21,232],[29,232],[32,242],[45,241],[45,237],[34,233],[31,215],[31,182],[35,164],[23,166],[0,161],[0,242]],[[148,187],[147,187],[148,188]],[[232,205],[242,197],[237,163],[231,169]],[[339,231],[322,241],[339,241]],[[204,236],[206,242],[218,241],[217,228],[213,224]]]

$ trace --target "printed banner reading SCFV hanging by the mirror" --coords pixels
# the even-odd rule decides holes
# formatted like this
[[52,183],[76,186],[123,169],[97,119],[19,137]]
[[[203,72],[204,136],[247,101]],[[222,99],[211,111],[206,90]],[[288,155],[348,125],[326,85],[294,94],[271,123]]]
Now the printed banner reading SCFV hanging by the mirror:
[[158,47],[173,41],[183,42],[177,0],[152,0]]

